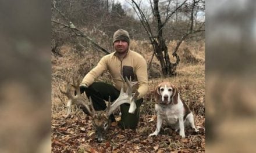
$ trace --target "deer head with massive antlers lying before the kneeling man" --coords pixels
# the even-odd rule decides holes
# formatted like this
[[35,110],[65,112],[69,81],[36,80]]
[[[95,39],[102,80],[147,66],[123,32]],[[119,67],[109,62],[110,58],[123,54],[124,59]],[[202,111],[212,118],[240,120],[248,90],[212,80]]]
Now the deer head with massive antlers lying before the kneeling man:
[[[118,97],[118,99],[113,101],[112,104],[111,104],[111,100],[109,97],[108,105],[106,107],[106,110],[104,110],[104,111],[95,111],[94,107],[93,107],[93,103],[91,102],[91,98],[89,98],[89,100],[87,100],[85,98],[86,96],[83,96],[80,93],[80,89],[79,89],[80,80],[75,81],[73,78],[73,85],[70,85],[70,83],[67,82],[65,91],[63,91],[61,88],[59,88],[61,90],[61,93],[65,94],[68,98],[67,105],[66,105],[66,108],[67,108],[66,117],[68,117],[70,115],[72,104],[73,105],[81,105],[84,108],[86,108],[87,114],[90,115],[91,119],[93,120],[93,126],[94,126],[94,130],[95,130],[95,138],[99,142],[104,140],[104,137],[109,129],[109,126],[111,125],[111,120],[109,119],[109,115],[111,115],[112,112],[115,111],[116,108],[119,107],[119,105],[124,104],[124,103],[130,104],[130,108],[129,108],[130,113],[134,113],[134,111],[136,110],[135,99],[138,96],[138,92],[136,90],[136,92],[133,94],[132,88],[134,87],[134,85],[137,84],[137,82],[131,82],[131,80],[129,80],[127,78],[126,78],[126,82],[125,82],[125,79],[123,79],[123,77],[121,75],[120,75],[120,77],[122,78],[122,88],[120,90],[119,97]],[[126,92],[123,91],[125,84],[127,85]],[[76,93],[77,93],[76,96],[74,96],[74,91],[71,89],[72,87],[76,90]]]

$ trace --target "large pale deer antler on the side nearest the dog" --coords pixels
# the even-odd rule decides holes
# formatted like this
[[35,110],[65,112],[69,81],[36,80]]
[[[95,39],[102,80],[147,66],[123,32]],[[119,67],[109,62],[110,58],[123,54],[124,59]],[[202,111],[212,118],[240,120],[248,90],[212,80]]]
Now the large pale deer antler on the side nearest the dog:
[[[122,79],[122,88],[120,90],[118,99],[116,99],[112,104],[109,99],[108,107],[106,108],[106,114],[108,116],[111,115],[112,112],[114,110],[116,110],[116,108],[119,105],[124,104],[124,103],[130,104],[130,108],[129,108],[130,113],[134,113],[134,111],[136,110],[136,104],[135,104],[134,100],[138,96],[138,92],[136,90],[136,93],[133,94],[132,88],[133,88],[133,86],[137,85],[138,82],[131,82],[131,78],[129,80],[127,77],[126,77],[126,82],[125,82],[125,79],[123,79],[122,75],[120,75],[120,77]],[[126,92],[123,91],[125,84],[127,85]]]

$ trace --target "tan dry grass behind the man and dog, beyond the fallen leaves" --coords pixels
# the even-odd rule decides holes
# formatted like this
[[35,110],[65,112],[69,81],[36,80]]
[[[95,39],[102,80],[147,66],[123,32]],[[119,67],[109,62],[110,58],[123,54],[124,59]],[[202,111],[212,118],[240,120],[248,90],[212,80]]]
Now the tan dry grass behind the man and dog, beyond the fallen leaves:
[[[169,53],[173,50],[173,45],[176,42],[168,43]],[[130,48],[141,53],[147,61],[150,61],[152,56],[152,46],[145,41],[131,40]],[[186,50],[190,55],[200,61],[191,62],[185,61]],[[76,52],[71,46],[62,46],[60,53],[61,57],[52,55],[52,114],[59,114],[63,111],[63,104],[65,97],[59,92],[58,86],[65,85],[65,81],[73,76],[83,78],[91,68],[95,67],[97,62],[104,56],[94,50],[87,52]],[[175,84],[184,100],[186,100],[192,110],[198,115],[204,115],[204,42],[190,42],[182,43],[178,52],[180,56],[180,64],[177,67],[177,76],[171,78],[157,78],[149,80],[149,92],[145,96],[145,102],[142,109],[143,112],[154,114],[154,100],[152,97],[152,90],[154,86],[161,81],[170,81]],[[154,57],[151,72],[161,74],[159,71],[159,64]],[[99,77],[100,81],[111,82],[111,77],[108,73]],[[149,76],[150,78],[150,76]],[[150,111],[148,111],[150,109]]]

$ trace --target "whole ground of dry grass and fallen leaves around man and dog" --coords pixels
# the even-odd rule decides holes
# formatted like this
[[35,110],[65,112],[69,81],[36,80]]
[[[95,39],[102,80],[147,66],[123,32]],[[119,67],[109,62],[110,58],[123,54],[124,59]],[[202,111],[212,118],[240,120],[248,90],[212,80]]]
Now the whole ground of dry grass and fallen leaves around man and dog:
[[[183,48],[187,50],[186,46]],[[80,72],[79,75],[83,76],[86,73],[84,71],[94,67],[100,57],[86,53],[81,56],[81,53],[74,53],[72,48],[67,46],[61,48],[62,56],[52,54],[52,152],[205,152],[204,45],[201,44],[199,50],[195,48],[197,46],[194,46],[194,49],[189,48],[192,53],[190,55],[195,58],[184,57],[184,53],[180,53],[181,59],[191,60],[178,65],[175,77],[149,76],[149,90],[140,108],[140,122],[137,129],[122,130],[116,122],[113,122],[102,143],[94,139],[91,118],[83,111],[73,109],[70,117],[65,118],[66,97],[59,92],[59,86],[65,86],[66,80],[74,72]],[[151,57],[147,52],[141,51],[141,54],[146,60]],[[93,60],[90,56],[94,57]],[[84,63],[90,64],[85,66]],[[88,70],[81,70],[81,67],[86,67]],[[151,72],[154,71],[155,73],[152,74],[157,74],[159,71],[157,64],[152,67]],[[109,75],[106,74],[99,78],[99,81],[108,82],[108,79]],[[195,125],[200,127],[199,132],[186,128],[186,137],[182,139],[178,132],[163,126],[158,136],[148,137],[157,126],[152,92],[162,81],[169,81],[177,86],[194,113]],[[120,120],[120,116],[116,116],[116,120]]]

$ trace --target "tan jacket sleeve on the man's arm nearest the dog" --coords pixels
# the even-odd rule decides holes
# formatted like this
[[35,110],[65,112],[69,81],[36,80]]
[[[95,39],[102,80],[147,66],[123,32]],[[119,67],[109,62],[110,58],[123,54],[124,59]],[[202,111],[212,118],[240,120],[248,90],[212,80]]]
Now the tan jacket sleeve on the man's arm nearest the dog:
[[138,92],[140,93],[137,99],[141,99],[148,91],[147,62],[143,57],[141,60],[138,60],[135,73],[138,79]]

